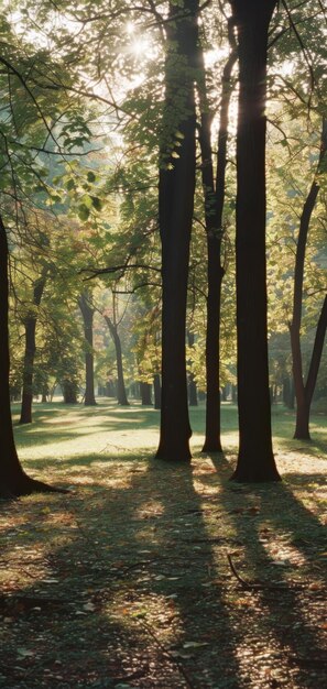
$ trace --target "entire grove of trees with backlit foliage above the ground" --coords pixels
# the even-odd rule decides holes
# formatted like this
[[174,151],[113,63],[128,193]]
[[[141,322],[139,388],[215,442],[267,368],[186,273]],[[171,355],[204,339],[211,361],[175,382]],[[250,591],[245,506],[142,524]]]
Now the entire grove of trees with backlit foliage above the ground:
[[327,412],[323,14],[3,8],[1,494],[50,490],[25,477],[10,415],[21,400],[31,424],[39,395],[154,403],[156,458],[185,462],[188,405],[206,401],[203,451],[221,452],[237,394],[237,481],[280,479],[272,403],[294,397],[309,439],[312,404]]

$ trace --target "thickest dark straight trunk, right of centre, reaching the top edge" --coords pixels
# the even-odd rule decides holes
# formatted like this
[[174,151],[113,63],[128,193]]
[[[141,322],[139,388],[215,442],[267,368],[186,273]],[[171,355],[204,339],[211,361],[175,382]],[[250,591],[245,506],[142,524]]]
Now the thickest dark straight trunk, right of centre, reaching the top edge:
[[[231,0],[238,29],[237,329],[240,447],[233,479],[280,479],[272,449],[265,269],[265,99],[276,0]],[[253,382],[255,381],[255,385]]]

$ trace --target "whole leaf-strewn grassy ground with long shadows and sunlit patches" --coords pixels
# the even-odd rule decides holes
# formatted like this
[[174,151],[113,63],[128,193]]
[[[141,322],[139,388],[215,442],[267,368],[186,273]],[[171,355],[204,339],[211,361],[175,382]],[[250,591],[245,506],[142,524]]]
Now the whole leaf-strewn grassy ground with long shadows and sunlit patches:
[[189,466],[153,459],[154,409],[35,408],[20,458],[70,493],[0,502],[1,688],[327,686],[326,417],[304,444],[277,408],[283,482],[244,485],[231,405],[224,456],[193,411]]

